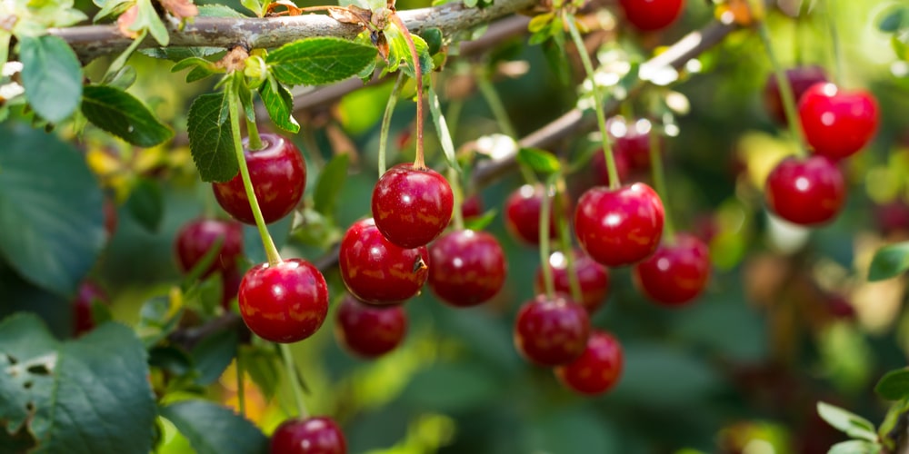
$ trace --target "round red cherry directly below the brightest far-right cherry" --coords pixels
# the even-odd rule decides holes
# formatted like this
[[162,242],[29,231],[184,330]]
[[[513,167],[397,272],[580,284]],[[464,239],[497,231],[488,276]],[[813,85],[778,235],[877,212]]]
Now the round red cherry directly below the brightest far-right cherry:
[[785,158],[767,176],[764,198],[788,222],[813,226],[832,221],[843,208],[843,173],[824,156]]

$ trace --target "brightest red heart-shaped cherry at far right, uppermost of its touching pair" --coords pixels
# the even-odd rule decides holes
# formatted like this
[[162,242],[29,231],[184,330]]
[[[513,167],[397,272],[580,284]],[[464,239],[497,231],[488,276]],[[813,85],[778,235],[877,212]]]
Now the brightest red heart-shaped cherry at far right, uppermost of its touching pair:
[[798,104],[805,140],[815,154],[843,159],[871,141],[879,121],[877,101],[864,90],[814,84]]

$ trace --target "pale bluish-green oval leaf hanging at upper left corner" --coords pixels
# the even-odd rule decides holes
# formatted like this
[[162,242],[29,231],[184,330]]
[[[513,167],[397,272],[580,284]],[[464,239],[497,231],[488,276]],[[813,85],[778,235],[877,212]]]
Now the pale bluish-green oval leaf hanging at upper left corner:
[[23,36],[19,41],[22,85],[35,112],[60,123],[82,98],[82,66],[69,44],[57,36]]

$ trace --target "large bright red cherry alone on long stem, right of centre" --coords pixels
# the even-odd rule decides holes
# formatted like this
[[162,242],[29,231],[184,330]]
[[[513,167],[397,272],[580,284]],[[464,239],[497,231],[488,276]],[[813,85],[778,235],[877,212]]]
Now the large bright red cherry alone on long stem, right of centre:
[[574,211],[574,234],[594,261],[605,266],[641,262],[663,236],[663,202],[644,183],[584,192]]

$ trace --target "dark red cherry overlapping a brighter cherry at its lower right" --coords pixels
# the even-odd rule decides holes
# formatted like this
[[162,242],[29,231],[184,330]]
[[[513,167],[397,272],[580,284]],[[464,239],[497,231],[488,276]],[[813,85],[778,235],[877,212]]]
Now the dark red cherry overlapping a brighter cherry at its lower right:
[[576,360],[590,335],[590,319],[584,306],[562,294],[554,299],[537,295],[517,312],[514,347],[541,366],[556,366]]

